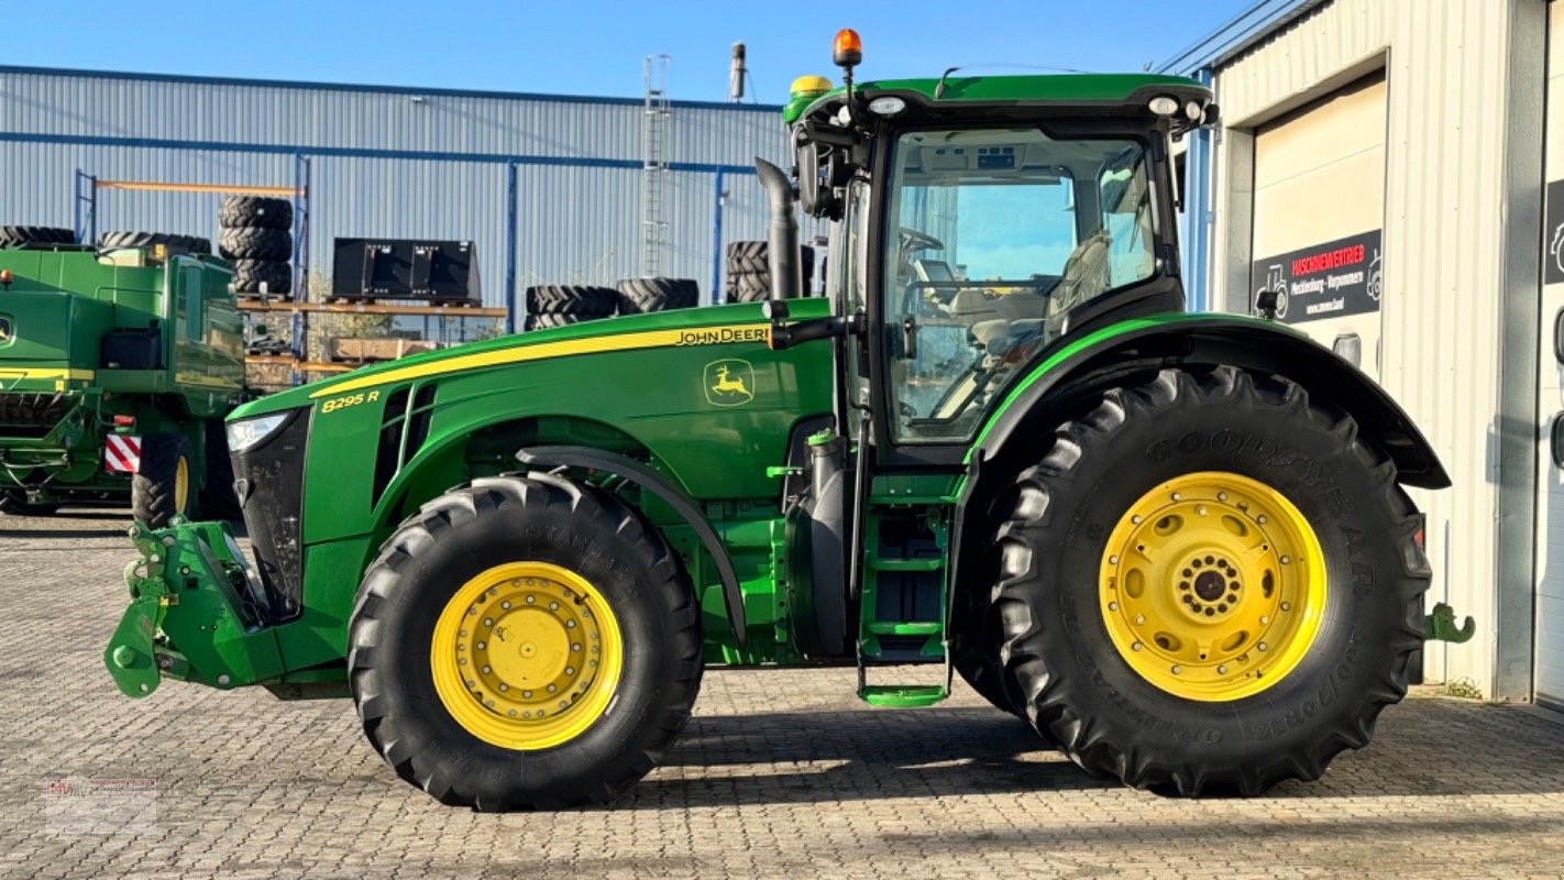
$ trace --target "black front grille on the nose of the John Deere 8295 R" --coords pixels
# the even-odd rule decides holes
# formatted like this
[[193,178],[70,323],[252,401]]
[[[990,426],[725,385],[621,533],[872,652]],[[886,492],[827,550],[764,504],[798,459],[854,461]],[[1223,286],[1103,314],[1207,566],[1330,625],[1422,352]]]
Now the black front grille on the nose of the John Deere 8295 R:
[[255,566],[278,622],[303,606],[303,456],[310,410],[294,410],[288,422],[258,447],[233,456],[235,494],[255,547]]

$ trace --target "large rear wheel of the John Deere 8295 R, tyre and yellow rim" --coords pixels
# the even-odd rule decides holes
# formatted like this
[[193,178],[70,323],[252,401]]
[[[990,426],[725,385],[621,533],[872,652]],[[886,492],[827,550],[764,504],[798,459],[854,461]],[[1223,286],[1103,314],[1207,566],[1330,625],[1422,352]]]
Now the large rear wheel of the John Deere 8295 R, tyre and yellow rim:
[[1109,391],[1018,478],[995,606],[1010,691],[1082,767],[1257,794],[1406,694],[1429,569],[1358,425],[1279,377]]

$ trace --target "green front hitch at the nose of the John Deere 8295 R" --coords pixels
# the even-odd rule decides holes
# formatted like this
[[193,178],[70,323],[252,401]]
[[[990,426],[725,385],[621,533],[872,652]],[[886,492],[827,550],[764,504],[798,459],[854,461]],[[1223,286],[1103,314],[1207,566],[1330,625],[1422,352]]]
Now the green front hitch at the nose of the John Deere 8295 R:
[[145,697],[161,678],[227,689],[282,675],[266,591],[227,524],[138,522],[130,538],[141,552],[125,566],[130,608],[103,650],[120,692]]

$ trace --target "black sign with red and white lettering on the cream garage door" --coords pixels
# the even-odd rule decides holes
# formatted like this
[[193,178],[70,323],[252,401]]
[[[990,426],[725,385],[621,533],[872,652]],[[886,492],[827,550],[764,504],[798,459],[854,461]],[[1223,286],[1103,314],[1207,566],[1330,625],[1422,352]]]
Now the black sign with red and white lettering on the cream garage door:
[[1273,291],[1282,324],[1379,311],[1379,238],[1381,230],[1373,230],[1254,261],[1250,308],[1254,297]]

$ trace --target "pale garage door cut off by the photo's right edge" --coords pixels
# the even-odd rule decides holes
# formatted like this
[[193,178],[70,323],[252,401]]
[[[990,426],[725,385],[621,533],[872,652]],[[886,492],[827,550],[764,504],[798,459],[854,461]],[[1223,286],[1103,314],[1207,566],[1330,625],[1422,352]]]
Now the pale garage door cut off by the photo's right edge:
[[1564,6],[1548,13],[1547,203],[1537,422],[1537,702],[1564,708]]

